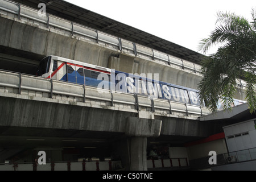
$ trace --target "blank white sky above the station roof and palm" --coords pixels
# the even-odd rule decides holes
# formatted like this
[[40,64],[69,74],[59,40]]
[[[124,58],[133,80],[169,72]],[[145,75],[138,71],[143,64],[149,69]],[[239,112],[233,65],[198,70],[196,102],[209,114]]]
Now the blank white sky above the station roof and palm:
[[[256,9],[255,0],[65,1],[199,53],[200,40],[214,30],[218,11],[236,13],[251,21],[251,9]],[[208,53],[215,51],[216,47]]]

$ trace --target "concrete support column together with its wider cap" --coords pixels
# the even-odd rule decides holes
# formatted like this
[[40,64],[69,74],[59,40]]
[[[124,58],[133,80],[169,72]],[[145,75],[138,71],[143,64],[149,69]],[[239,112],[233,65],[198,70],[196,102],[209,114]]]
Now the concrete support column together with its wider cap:
[[127,117],[125,135],[113,142],[113,157],[126,171],[147,171],[147,138],[159,137],[162,121]]

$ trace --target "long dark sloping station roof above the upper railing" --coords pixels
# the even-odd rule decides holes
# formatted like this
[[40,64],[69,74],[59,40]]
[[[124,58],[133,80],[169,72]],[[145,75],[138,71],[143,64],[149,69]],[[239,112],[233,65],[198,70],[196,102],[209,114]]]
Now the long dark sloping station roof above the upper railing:
[[131,42],[150,47],[180,59],[200,64],[203,55],[191,49],[179,46],[158,36],[148,34],[142,30],[123,24],[106,16],[86,10],[63,0],[13,0],[14,2],[38,9],[39,3],[46,3],[47,13],[59,16],[72,22],[82,24],[107,34],[117,36]]

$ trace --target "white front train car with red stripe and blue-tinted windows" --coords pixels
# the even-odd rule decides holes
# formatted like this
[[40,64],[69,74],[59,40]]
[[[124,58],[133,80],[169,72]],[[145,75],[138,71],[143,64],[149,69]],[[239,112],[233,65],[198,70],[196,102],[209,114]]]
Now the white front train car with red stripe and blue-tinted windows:
[[98,86],[102,80],[98,75],[104,73],[110,78],[111,69],[82,63],[59,56],[47,56],[40,61],[38,76],[67,81],[76,84]]

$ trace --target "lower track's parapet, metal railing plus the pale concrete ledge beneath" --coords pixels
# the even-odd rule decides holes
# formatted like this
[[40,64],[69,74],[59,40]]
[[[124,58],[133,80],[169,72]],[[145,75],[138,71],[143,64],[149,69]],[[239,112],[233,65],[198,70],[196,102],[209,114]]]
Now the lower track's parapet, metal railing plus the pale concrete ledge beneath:
[[[150,100],[146,96],[110,92],[98,92],[98,88],[51,80],[35,76],[0,71],[2,92],[16,93],[14,97],[34,101],[96,107],[109,110],[127,111],[139,114],[139,118],[155,119],[155,115],[197,119],[209,114],[205,107],[168,100]],[[10,89],[10,90],[9,90]],[[52,98],[52,99],[51,99]],[[154,112],[152,112],[154,107]]]

